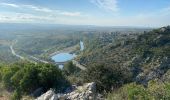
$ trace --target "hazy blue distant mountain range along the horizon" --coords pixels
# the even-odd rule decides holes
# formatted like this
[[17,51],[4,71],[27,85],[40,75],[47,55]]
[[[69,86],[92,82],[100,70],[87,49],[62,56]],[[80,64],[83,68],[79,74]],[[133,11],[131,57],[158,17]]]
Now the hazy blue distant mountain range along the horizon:
[[95,25],[64,25],[40,23],[0,23],[0,30],[36,30],[36,29],[152,29],[138,26],[95,26]]

